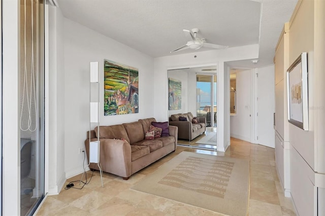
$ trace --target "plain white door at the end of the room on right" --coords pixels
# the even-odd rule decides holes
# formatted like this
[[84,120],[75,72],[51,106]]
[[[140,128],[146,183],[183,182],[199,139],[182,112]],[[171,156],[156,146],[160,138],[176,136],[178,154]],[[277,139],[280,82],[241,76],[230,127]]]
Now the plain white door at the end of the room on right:
[[275,110],[274,65],[258,68],[256,75],[256,121],[255,141],[258,144],[274,148],[275,131],[273,114]]

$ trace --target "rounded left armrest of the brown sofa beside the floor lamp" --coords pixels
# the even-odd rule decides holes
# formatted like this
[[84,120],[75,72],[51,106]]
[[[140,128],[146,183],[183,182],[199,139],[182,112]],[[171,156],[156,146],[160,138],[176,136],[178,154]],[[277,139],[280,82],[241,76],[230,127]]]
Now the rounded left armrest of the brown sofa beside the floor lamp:
[[[96,141],[97,138],[91,139]],[[89,139],[85,140],[85,149],[89,161]],[[131,146],[128,142],[119,139],[100,139],[100,163],[103,171],[121,177],[131,175]],[[99,169],[95,163],[90,163],[89,168]]]

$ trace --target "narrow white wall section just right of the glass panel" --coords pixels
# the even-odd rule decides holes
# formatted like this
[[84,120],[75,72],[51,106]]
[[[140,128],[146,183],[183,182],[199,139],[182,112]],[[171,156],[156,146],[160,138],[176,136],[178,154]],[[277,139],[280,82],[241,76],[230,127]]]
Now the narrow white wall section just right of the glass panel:
[[[66,181],[64,172],[64,59],[63,59],[63,16],[55,7],[48,7],[48,192],[58,194]],[[47,134],[46,134],[47,136]]]

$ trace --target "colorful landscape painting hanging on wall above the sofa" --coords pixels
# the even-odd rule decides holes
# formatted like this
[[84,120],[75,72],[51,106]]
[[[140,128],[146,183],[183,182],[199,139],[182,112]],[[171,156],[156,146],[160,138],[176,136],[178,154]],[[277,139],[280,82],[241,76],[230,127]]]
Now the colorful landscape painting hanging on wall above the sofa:
[[139,70],[104,59],[104,115],[139,113]]

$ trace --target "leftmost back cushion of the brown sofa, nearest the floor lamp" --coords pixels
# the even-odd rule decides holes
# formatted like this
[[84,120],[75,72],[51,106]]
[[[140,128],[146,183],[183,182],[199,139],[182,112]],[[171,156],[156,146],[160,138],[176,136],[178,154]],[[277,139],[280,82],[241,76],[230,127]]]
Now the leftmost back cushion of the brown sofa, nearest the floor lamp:
[[109,138],[109,139],[121,139],[124,138],[127,142],[130,142],[126,130],[123,125],[111,125],[100,126],[100,134],[98,134],[97,127],[94,129],[96,137]]

